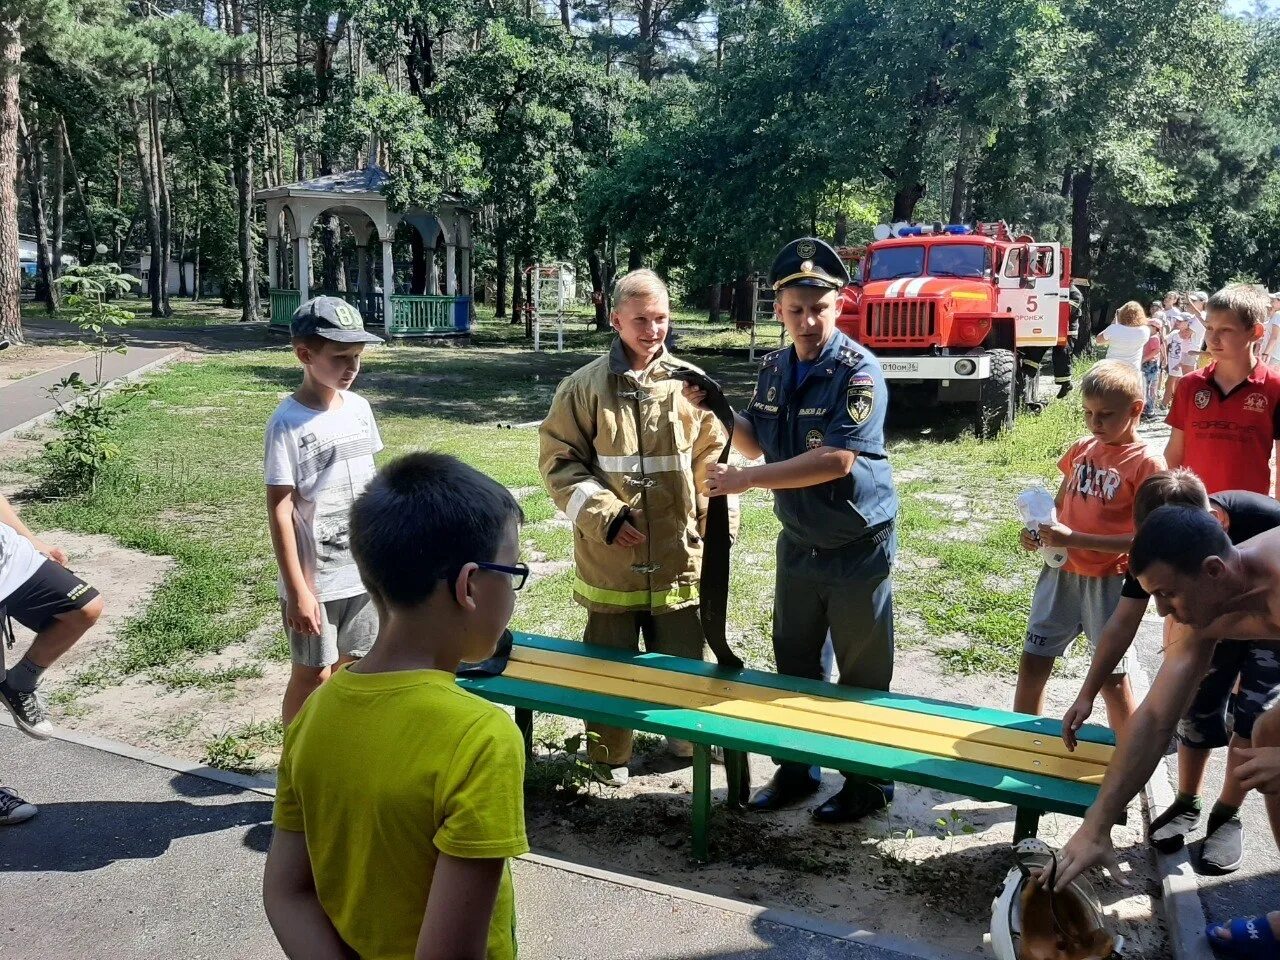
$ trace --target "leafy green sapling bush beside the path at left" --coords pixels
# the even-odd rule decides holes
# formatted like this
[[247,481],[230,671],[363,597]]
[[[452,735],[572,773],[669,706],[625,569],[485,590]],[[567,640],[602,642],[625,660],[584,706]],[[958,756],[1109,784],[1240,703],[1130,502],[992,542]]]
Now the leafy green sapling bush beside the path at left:
[[[69,319],[81,332],[81,343],[93,353],[92,379],[74,371],[47,389],[58,407],[58,435],[45,444],[45,493],[73,497],[92,493],[102,471],[120,452],[111,434],[124,404],[106,402],[102,364],[110,353],[127,352],[113,340],[110,330],[127,324],[133,314],[111,298],[128,293],[137,279],[122,274],[115,264],[105,264],[72,268],[56,283]],[[115,396],[131,397],[142,389],[140,384],[128,384]]]

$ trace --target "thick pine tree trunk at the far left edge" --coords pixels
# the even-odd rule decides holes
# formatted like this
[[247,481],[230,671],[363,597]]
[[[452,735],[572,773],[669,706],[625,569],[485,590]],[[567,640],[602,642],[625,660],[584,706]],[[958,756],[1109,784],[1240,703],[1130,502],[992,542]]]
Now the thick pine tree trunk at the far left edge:
[[22,343],[22,269],[18,265],[18,69],[22,33],[0,20],[0,339]]

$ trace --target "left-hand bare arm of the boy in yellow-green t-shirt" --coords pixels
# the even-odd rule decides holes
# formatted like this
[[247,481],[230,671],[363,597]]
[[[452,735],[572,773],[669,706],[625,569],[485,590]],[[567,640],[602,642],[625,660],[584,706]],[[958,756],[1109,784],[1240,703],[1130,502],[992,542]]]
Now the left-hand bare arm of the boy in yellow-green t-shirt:
[[305,835],[275,828],[262,872],[262,906],[289,960],[357,960],[316,896]]

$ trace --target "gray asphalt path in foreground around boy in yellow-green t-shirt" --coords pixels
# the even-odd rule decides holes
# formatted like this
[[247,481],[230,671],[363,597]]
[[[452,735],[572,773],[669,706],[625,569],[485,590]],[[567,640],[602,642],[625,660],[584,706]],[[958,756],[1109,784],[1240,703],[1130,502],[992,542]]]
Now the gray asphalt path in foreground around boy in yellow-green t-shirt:
[[[0,758],[40,805],[0,827],[0,957],[283,956],[260,893],[269,796],[10,726]],[[516,861],[515,878],[522,960],[906,960],[541,863]]]

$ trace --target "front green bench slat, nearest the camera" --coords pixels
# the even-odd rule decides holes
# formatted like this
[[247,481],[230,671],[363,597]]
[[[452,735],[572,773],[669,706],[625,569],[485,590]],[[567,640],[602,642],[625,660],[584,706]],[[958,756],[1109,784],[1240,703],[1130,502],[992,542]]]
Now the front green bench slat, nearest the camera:
[[[524,641],[522,636],[517,635],[517,644]],[[547,640],[548,637],[540,639]],[[570,644],[570,646],[577,646],[577,644]],[[783,760],[819,763],[869,777],[888,776],[977,800],[1007,803],[1079,817],[1097,796],[1094,786],[1057,780],[1056,777],[986,767],[969,760],[933,756],[914,750],[867,744],[826,733],[785,730],[756,721],[719,717],[621,696],[570,690],[531,680],[499,676],[465,678],[458,682],[486,700],[511,707],[577,717],[593,723],[644,730],[722,746],[726,750],[767,753]],[[829,685],[823,686],[829,689]]]

